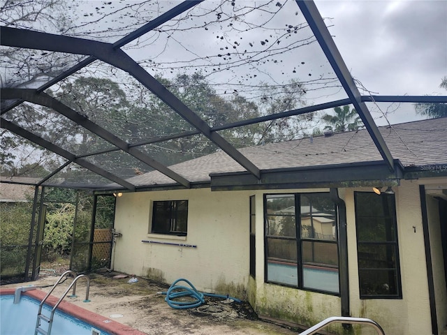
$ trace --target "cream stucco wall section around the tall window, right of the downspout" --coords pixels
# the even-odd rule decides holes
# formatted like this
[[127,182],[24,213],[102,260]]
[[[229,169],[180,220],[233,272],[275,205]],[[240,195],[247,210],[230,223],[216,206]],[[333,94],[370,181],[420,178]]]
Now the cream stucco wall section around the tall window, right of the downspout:
[[419,185],[414,181],[402,180],[401,185],[393,190],[396,199],[402,299],[359,298],[353,193],[371,190],[363,188],[346,191],[351,315],[379,322],[386,334],[432,334]]

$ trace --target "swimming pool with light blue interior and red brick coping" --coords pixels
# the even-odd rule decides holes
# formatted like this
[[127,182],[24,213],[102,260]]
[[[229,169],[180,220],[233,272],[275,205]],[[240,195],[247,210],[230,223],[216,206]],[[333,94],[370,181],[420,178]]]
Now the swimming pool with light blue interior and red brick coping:
[[[41,290],[22,292],[19,304],[13,304],[14,289],[0,290],[0,334],[34,334],[40,301],[45,297]],[[50,315],[57,298],[50,296],[43,314]],[[44,322],[45,323],[45,322]],[[42,327],[46,329],[45,327]],[[62,301],[52,325],[51,335],[144,335],[144,333],[119,322],[109,320],[84,308]]]

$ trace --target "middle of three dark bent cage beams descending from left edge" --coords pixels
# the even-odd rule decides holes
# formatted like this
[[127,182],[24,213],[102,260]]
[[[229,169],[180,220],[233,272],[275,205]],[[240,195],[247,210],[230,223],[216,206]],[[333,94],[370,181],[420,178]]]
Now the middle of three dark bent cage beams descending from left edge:
[[153,158],[147,156],[147,154],[143,153],[142,151],[136,148],[129,147],[129,143],[125,142],[116,135],[113,135],[112,133],[110,133],[110,131],[105,130],[101,126],[98,126],[98,124],[90,121],[87,117],[84,117],[78,112],[75,112],[75,110],[72,110],[67,105],[64,105],[64,103],[57,101],[57,99],[49,96],[44,92],[38,94],[35,89],[0,89],[0,96],[1,98],[6,99],[19,98],[23,101],[29,101],[30,103],[36,103],[37,105],[50,107],[52,110],[59,112],[59,114],[64,115],[64,117],[71,119],[71,121],[74,121],[76,124],[79,124],[88,131],[91,131],[91,133],[98,135],[109,143],[115,145],[115,147],[118,147],[127,154],[130,154],[131,156],[137,158],[139,161],[142,161],[155,170],[158,170],[159,172],[165,174],[166,176],[170,177],[170,179],[177,181],[177,183],[182,184],[186,188],[190,187],[189,181],[186,180],[184,177],[180,176],[173,170],[170,170],[165,165],[159,163]]

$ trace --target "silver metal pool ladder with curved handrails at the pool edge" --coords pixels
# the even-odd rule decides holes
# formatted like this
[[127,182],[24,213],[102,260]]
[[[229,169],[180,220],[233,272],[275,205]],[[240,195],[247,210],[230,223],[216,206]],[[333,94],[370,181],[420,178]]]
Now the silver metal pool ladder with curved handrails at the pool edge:
[[[43,315],[42,314],[43,304],[48,299],[48,297],[50,297],[50,295],[53,292],[54,288],[56,288],[56,286],[61,282],[62,278],[66,277],[68,275],[71,275],[74,278],[73,281],[71,282],[70,286],[68,286],[68,288],[66,289],[64,294],[61,295],[61,297],[59,298],[59,301],[57,301],[57,303],[52,308],[50,317],[47,317],[46,315]],[[87,293],[85,295],[84,302],[89,302],[89,290],[90,290],[90,279],[89,279],[89,277],[87,277],[85,274],[80,274],[79,276],[76,276],[75,272],[73,272],[73,271],[70,271],[70,270],[65,271],[63,274],[61,274],[61,276],[59,277],[57,282],[53,285],[53,287],[50,290],[50,292],[48,292],[48,294],[45,296],[45,298],[43,298],[43,300],[41,301],[41,304],[39,305],[39,310],[37,312],[37,320],[36,320],[36,330],[34,331],[34,335],[38,335],[38,334],[50,335],[51,334],[51,328],[52,328],[52,325],[53,325],[54,312],[56,311],[56,308],[57,308],[57,306],[59,306],[61,301],[64,300],[64,297],[66,296],[66,294],[68,293],[68,291],[72,287],[73,287],[73,294],[70,297],[76,297],[76,295],[75,295],[76,294],[76,282],[79,280],[79,278],[86,278],[87,279]],[[44,330],[44,329],[41,328],[41,321],[42,320],[48,323],[47,330]]]

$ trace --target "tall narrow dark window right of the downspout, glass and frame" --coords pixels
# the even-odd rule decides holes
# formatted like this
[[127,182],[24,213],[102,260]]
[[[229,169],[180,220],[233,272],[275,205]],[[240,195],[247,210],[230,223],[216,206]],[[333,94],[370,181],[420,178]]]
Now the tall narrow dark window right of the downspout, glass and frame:
[[402,298],[395,195],[355,193],[360,298]]

